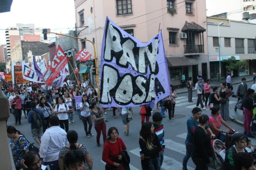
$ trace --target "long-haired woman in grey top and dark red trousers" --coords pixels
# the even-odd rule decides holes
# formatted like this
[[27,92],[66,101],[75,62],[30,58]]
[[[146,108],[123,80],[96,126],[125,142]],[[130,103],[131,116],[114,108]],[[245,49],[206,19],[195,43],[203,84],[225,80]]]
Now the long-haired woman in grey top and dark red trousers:
[[97,146],[100,147],[101,144],[99,143],[100,135],[102,133],[103,136],[103,142],[106,141],[107,135],[106,135],[106,123],[104,122],[104,116],[102,114],[102,111],[100,110],[98,104],[96,102],[92,102],[90,105],[91,109],[91,116],[94,120],[94,128],[96,130],[97,136]]

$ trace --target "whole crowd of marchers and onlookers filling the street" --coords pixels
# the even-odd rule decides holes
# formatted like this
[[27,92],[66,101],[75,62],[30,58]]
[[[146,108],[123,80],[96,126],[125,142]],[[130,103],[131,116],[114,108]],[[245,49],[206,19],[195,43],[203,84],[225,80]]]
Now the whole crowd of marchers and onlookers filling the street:
[[[224,170],[254,170],[252,153],[255,148],[248,137],[254,137],[250,130],[253,109],[253,88],[247,89],[245,78],[236,96],[236,108],[244,112],[244,133],[234,133],[229,122],[229,97],[234,95],[231,82],[221,83],[221,90],[211,86],[209,79],[204,80],[198,76],[195,84],[195,93],[198,96],[196,107],[192,109],[192,116],[187,120],[186,155],[183,158],[183,170],[187,170],[190,157],[196,165],[196,170],[207,170],[213,161],[211,146],[212,139],[220,139],[229,145],[223,158]],[[192,102],[192,78],[184,84],[188,88],[189,102]],[[226,88],[226,84],[227,87]],[[2,91],[9,99],[10,113],[14,115],[15,125],[21,125],[22,111],[25,119],[31,123],[31,134],[39,146],[38,152],[30,149],[28,140],[18,128],[7,126],[12,156],[17,170],[41,170],[42,164],[49,165],[51,170],[92,170],[93,159],[86,145],[78,143],[78,134],[69,130],[69,124],[74,122],[73,115],[78,113],[83,122],[86,137],[93,135],[91,129],[96,130],[96,145],[101,146],[100,136],[103,136],[102,160],[106,162],[106,170],[129,170],[130,158],[123,140],[119,137],[119,130],[110,127],[107,132],[106,109],[100,108],[97,91],[86,80],[76,85],[67,80],[63,87],[56,88],[56,83],[47,87],[44,84],[32,83],[17,85],[2,82]],[[80,88],[81,87],[81,88]],[[140,158],[143,170],[160,170],[164,160],[164,128],[163,118],[168,110],[169,122],[175,119],[175,99],[177,93],[171,85],[172,94],[157,103],[157,110],[152,112],[149,105],[143,105],[140,110],[141,130]],[[79,109],[76,107],[75,96],[82,96]],[[205,102],[203,104],[203,101]],[[207,104],[208,103],[208,104]],[[213,107],[211,106],[213,104]],[[211,115],[201,114],[201,109],[210,108]],[[160,106],[160,108],[159,108]],[[241,108],[242,107],[242,108]],[[235,108],[235,110],[236,110]],[[116,118],[119,111],[124,125],[125,136],[129,135],[129,122],[133,119],[132,108],[112,108]],[[150,116],[152,115],[152,122]],[[22,120],[23,121],[23,120]],[[8,124],[8,122],[6,121]],[[87,125],[88,124],[88,125]],[[222,130],[221,124],[228,128]],[[256,153],[255,153],[256,154]],[[171,167],[170,167],[171,168]]]

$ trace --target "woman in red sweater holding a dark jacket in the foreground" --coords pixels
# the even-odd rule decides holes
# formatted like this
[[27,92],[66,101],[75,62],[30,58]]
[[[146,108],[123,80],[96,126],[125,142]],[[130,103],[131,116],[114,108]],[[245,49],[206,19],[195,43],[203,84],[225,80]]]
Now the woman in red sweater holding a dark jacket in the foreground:
[[121,164],[121,153],[123,150],[126,150],[126,146],[118,135],[119,133],[116,127],[110,127],[108,129],[108,139],[104,144],[102,152],[102,160],[107,163],[105,170],[113,170],[117,167],[119,170],[125,170]]

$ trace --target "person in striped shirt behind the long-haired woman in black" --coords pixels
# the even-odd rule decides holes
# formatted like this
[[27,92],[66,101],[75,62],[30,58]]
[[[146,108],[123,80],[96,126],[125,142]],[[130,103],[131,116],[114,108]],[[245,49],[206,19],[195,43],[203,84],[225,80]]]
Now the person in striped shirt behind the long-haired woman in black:
[[161,144],[162,150],[159,152],[159,158],[160,158],[160,166],[163,164],[163,153],[165,148],[164,143],[164,129],[163,129],[163,116],[159,112],[155,112],[152,116],[153,120],[153,127],[154,127],[154,133],[157,134],[157,138]]

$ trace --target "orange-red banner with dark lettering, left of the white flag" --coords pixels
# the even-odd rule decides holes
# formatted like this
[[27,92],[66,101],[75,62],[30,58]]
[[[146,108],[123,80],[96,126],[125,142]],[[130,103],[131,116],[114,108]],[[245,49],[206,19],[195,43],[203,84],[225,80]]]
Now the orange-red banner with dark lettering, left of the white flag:
[[23,84],[28,83],[28,80],[23,79],[22,76],[22,65],[17,62],[12,62],[12,83]]

